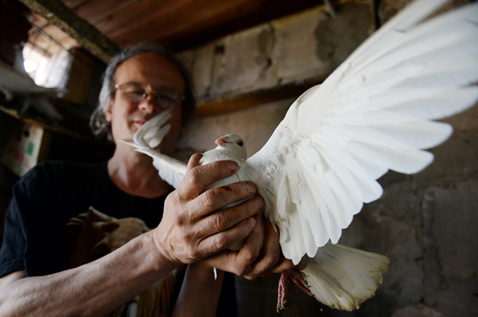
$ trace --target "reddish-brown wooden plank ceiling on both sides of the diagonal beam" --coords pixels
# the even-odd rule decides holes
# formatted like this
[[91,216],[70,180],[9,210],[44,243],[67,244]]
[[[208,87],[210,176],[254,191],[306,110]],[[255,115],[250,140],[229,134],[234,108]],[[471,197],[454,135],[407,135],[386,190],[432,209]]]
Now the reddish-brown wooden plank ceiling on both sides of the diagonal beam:
[[[323,4],[321,0],[61,0],[119,47],[141,42],[192,48],[274,18]],[[33,14],[37,31],[63,48],[78,46]],[[31,36],[37,36],[34,33]],[[42,46],[41,39],[36,45]],[[44,48],[45,49],[45,48]]]

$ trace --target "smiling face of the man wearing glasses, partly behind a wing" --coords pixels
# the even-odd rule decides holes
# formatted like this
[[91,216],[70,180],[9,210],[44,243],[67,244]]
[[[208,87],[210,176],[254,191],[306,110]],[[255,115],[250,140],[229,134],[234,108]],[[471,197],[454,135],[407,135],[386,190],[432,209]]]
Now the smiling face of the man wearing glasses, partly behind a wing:
[[[165,57],[146,53],[126,59],[116,69],[114,84],[127,82],[142,83],[152,90],[168,88],[184,95],[184,79],[179,70]],[[120,89],[116,89],[114,99],[106,112],[106,119],[111,122],[111,131],[115,143],[119,140],[131,140],[138,128],[154,116],[166,109],[157,103],[155,98],[148,96],[139,103],[129,101]],[[163,153],[169,153],[176,143],[182,129],[181,102],[173,108],[168,123],[171,130],[163,139]]]

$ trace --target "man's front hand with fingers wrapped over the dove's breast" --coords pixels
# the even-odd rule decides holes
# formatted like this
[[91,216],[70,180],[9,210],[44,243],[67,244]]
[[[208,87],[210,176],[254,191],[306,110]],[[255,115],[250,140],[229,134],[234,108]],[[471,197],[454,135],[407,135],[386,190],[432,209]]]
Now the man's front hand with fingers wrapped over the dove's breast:
[[157,249],[173,263],[194,263],[244,239],[264,206],[261,197],[254,197],[215,212],[256,194],[256,187],[238,182],[205,191],[209,184],[236,173],[237,164],[218,161],[201,166],[200,158],[201,154],[190,158],[186,176],[166,199],[163,219],[153,232]]

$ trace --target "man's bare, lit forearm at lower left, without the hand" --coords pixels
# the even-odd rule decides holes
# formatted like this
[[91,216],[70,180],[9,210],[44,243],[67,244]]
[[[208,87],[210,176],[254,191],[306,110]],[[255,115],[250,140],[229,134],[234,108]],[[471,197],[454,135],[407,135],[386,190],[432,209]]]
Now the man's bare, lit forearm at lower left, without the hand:
[[2,316],[103,316],[143,292],[177,265],[143,234],[105,257],[0,290]]

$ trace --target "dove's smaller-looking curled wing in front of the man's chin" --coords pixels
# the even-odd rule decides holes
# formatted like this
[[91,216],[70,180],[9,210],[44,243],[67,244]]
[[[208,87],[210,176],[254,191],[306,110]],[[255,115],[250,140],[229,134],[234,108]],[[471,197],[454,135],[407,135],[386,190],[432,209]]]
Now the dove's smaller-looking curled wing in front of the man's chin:
[[161,147],[161,141],[171,129],[170,124],[165,124],[170,117],[171,110],[158,113],[140,126],[133,135],[133,142],[125,140],[121,140],[121,142],[135,147],[138,152],[151,156],[158,175],[177,188],[186,175],[187,165],[157,149]]

